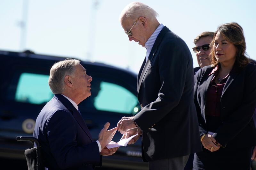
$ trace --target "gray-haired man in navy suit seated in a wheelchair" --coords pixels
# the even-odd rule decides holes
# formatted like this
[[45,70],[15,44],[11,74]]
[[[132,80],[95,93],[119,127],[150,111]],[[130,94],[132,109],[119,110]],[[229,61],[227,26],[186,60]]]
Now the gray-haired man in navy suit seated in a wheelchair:
[[92,170],[100,165],[101,155],[112,155],[107,149],[116,128],[107,130],[107,122],[93,141],[78,104],[91,95],[92,77],[80,61],[68,59],[55,63],[48,84],[54,93],[36,119],[34,137],[41,143],[44,166],[50,169]]

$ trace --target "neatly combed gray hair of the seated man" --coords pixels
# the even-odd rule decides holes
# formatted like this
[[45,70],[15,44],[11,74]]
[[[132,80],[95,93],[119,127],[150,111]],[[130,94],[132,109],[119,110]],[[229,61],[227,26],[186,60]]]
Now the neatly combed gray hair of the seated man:
[[79,63],[79,60],[67,58],[52,66],[48,85],[50,86],[53,94],[60,94],[65,90],[65,76],[73,76],[75,73],[75,66]]

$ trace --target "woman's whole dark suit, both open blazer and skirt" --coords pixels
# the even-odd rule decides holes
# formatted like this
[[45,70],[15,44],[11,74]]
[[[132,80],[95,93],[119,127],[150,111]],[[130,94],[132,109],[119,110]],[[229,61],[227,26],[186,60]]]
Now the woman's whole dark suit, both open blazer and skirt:
[[[197,74],[194,88],[200,135],[208,131],[205,105],[214,77],[214,73],[210,74],[212,70],[211,66],[203,67]],[[216,141],[225,148],[221,147],[215,152],[203,148],[203,152],[195,155],[193,169],[201,170],[203,164],[205,169],[250,169],[244,162],[250,165],[252,146],[256,145],[256,129],[252,120],[256,107],[255,78],[255,65],[250,63],[240,69],[234,64],[220,98],[221,123],[214,131]]]

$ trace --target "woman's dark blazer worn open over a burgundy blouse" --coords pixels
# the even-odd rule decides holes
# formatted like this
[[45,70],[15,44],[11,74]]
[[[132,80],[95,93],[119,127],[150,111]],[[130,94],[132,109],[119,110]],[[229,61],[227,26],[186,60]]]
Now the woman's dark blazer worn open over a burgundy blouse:
[[[197,109],[200,135],[207,133],[205,120],[205,98],[214,73],[213,68],[203,67],[197,74],[194,99]],[[252,116],[256,108],[256,65],[248,64],[244,69],[234,65],[224,85],[220,99],[221,125],[215,139],[227,148],[256,145],[256,129]]]

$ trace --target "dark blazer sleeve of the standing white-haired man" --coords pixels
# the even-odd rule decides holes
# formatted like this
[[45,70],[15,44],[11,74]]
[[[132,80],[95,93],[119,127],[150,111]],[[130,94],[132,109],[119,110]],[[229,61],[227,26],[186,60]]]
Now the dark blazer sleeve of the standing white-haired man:
[[134,121],[140,129],[145,130],[156,124],[179,104],[185,86],[188,62],[192,60],[189,58],[189,50],[186,49],[187,46],[182,42],[168,42],[159,49],[159,55],[156,57],[161,87],[156,100],[134,116]]

